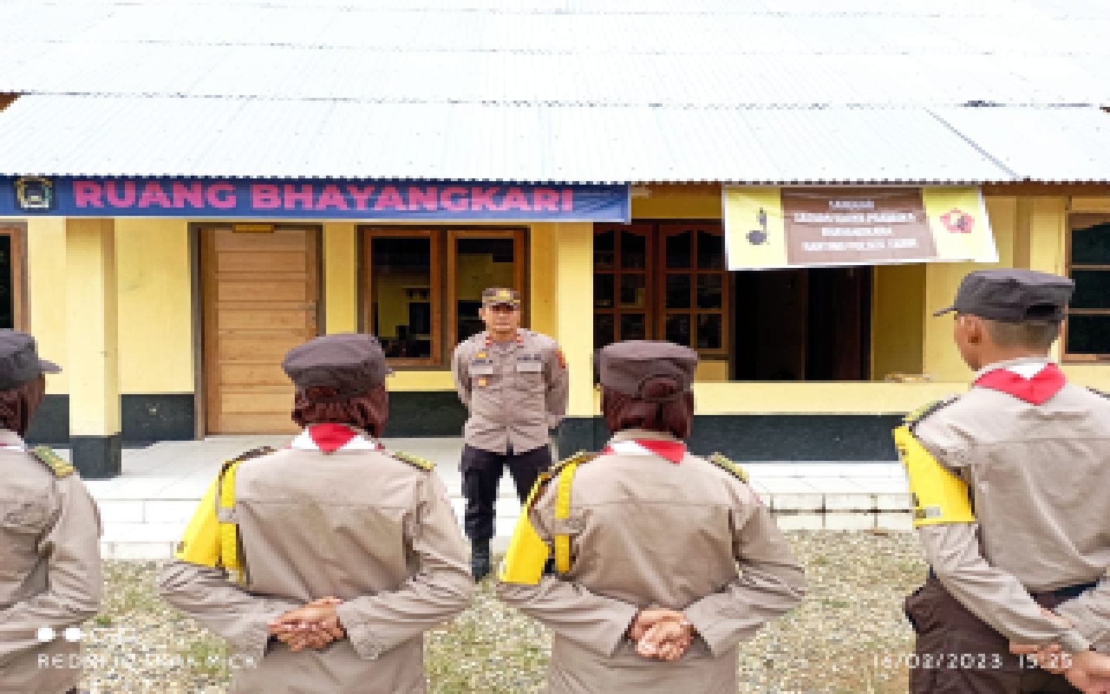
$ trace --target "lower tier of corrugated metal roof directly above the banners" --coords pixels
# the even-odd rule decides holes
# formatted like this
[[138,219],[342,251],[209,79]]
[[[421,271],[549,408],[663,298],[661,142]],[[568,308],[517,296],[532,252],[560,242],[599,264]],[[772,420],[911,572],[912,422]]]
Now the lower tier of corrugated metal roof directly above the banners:
[[[0,113],[0,173],[597,182],[1104,180],[1110,150],[1101,118],[1096,109],[962,109],[938,118],[920,108],[542,108],[30,95]],[[1008,125],[988,132],[992,122]],[[977,127],[983,132],[968,134]],[[1028,159],[1015,153],[1036,139],[1030,133],[1046,128],[1067,130],[1069,139]],[[1096,138],[1103,149],[1089,147]],[[1084,168],[1068,174],[1084,157]]]

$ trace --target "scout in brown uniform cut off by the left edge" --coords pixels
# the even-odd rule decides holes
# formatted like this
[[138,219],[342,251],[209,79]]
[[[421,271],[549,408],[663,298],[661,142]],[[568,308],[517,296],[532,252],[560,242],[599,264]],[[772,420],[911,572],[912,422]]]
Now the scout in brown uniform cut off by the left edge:
[[[0,331],[0,692],[59,694],[81,677],[79,625],[100,607],[100,515],[73,467],[23,434],[42,402],[31,335]],[[71,630],[67,632],[65,630]]]

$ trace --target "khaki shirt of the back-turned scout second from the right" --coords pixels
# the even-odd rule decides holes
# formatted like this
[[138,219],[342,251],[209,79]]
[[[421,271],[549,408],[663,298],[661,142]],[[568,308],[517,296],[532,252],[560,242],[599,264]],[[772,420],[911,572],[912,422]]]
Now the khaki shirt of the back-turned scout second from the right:
[[[635,439],[677,441],[628,430],[612,442]],[[547,483],[531,517],[548,544],[571,534],[571,571],[538,585],[497,585],[502,601],[554,633],[548,691],[735,694],[738,644],[797,605],[805,589],[751,489],[688,453],[679,464],[622,453],[579,465],[565,520],[554,517],[556,487]],[[682,660],[636,655],[625,634],[650,606],[680,610],[697,628]]]

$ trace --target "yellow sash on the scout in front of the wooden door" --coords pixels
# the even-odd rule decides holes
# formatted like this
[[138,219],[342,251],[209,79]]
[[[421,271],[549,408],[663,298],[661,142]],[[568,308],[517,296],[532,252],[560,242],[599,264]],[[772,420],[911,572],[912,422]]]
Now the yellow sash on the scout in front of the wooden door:
[[235,519],[235,474],[239,465],[252,457],[273,453],[263,446],[223,464],[185,526],[185,534],[173,557],[192,564],[223,569],[242,583],[245,580],[240,552],[239,523]]

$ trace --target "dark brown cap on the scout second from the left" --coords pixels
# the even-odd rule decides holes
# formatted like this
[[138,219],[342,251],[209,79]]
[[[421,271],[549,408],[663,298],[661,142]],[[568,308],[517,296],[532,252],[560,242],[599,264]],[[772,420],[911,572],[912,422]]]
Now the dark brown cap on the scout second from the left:
[[296,390],[330,388],[336,400],[362,395],[385,383],[391,373],[377,339],[356,333],[324,335],[297,345],[285,354],[281,368]]

